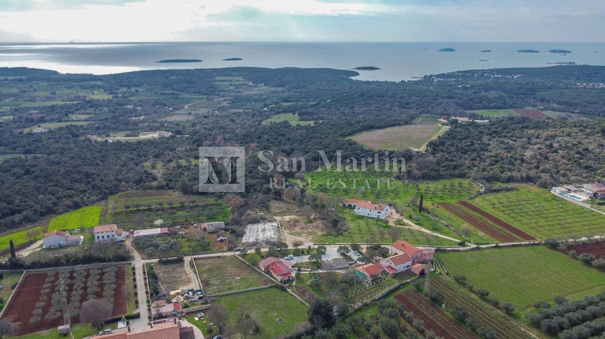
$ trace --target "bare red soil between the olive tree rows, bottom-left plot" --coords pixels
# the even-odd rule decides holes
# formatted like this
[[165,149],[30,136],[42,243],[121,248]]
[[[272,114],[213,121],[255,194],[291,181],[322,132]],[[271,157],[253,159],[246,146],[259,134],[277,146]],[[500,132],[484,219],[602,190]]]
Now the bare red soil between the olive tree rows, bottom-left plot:
[[[126,303],[128,302],[128,296],[126,292],[128,289],[126,288],[126,267],[119,266],[116,271],[116,290],[114,290],[114,307],[113,307],[113,316],[126,314]],[[73,278],[74,271],[70,273],[70,279]],[[87,270],[87,280],[89,276],[90,270]],[[7,308],[3,318],[12,318],[13,322],[18,323],[19,328],[15,335],[25,335],[33,332],[44,331],[45,329],[56,328],[59,325],[63,325],[63,314],[61,312],[60,317],[55,318],[53,320],[45,320],[44,315],[47,314],[49,309],[51,308],[51,295],[48,296],[47,301],[42,308],[42,317],[39,322],[29,323],[30,318],[33,317],[33,310],[35,308],[35,304],[40,300],[42,287],[45,284],[48,275],[47,272],[43,273],[31,273],[27,274],[24,277],[24,280],[21,282],[15,293],[15,296],[10,300],[10,303],[6,305]],[[59,274],[57,271],[54,271],[54,280],[51,281],[53,287],[51,287],[51,293],[54,292],[54,287],[58,286],[58,277]],[[96,296],[100,299],[103,297],[103,273],[99,278],[99,293]],[[71,302],[71,292],[73,290],[73,284],[66,284],[67,288],[67,302]],[[84,284],[82,288],[82,295],[80,296],[80,305],[87,300],[87,284]],[[79,317],[72,317],[71,323],[78,323]]]

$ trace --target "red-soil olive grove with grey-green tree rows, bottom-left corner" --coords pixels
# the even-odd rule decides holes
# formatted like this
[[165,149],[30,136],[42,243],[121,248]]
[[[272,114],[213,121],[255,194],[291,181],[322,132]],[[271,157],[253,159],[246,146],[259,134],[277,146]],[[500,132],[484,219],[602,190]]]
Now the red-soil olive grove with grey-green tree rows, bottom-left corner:
[[25,335],[63,325],[63,300],[60,281],[66,287],[67,311],[71,323],[79,323],[82,303],[105,299],[113,305],[113,315],[126,314],[128,289],[125,266],[65,268],[44,273],[27,274],[6,306],[4,318],[19,325],[15,335]]

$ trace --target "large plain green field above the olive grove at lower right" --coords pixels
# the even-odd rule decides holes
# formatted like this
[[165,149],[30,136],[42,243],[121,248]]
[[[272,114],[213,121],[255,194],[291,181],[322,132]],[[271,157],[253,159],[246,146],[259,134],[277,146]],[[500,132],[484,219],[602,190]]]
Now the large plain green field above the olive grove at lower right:
[[557,296],[596,294],[605,288],[605,273],[545,246],[439,253],[450,273],[464,274],[474,289],[518,309]]

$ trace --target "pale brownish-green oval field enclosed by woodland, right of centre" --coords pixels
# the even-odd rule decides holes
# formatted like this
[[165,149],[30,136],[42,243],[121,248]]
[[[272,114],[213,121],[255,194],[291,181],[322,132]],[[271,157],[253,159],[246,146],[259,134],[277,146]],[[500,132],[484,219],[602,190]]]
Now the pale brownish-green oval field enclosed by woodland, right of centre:
[[350,139],[373,150],[402,151],[419,149],[442,130],[437,124],[404,125],[365,131]]

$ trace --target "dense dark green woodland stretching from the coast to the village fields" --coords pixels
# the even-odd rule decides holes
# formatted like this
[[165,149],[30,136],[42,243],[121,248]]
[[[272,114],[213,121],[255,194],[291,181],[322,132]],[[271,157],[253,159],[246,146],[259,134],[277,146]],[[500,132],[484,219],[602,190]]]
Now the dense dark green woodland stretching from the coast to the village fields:
[[[313,170],[319,164],[316,150],[327,154],[343,150],[344,159],[370,156],[373,152],[345,137],[410,124],[422,113],[452,116],[468,109],[540,105],[594,118],[605,116],[605,90],[576,86],[603,82],[605,67],[464,71],[400,83],[352,80],[356,74],[333,69],[229,68],[97,76],[0,69],[0,91],[11,90],[0,92],[0,108],[8,107],[0,115],[13,116],[0,122],[0,230],[120,191],[196,192],[199,146],[245,146],[251,154],[246,194],[279,198],[280,190],[267,185],[273,173],[257,170],[255,151],[304,156],[307,170]],[[91,90],[107,97],[88,96]],[[36,106],[38,101],[77,103]],[[183,111],[188,119],[165,119],[198,101],[201,106]],[[299,119],[316,123],[262,123],[276,113],[296,113]],[[86,118],[90,124],[26,133],[38,124],[67,121],[70,114],[91,115]],[[146,118],[128,119],[140,115]],[[114,143],[86,138],[111,131],[138,135],[154,130],[186,136]],[[600,119],[540,122],[517,118],[486,125],[457,124],[431,142],[427,154],[405,151],[391,156],[406,157],[411,179],[473,176],[545,185],[601,180],[603,131],[605,122]],[[295,173],[283,174],[292,177]]]

